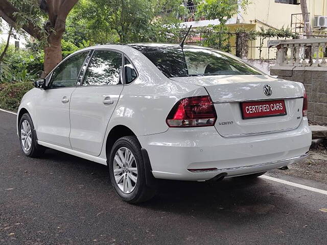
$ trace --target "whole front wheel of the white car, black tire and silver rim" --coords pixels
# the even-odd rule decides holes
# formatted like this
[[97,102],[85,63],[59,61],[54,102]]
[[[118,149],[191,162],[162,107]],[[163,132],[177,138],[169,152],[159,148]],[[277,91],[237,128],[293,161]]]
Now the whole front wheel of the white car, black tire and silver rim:
[[37,143],[37,136],[33,121],[29,113],[21,116],[18,125],[18,136],[21,150],[28,157],[38,157],[45,151],[45,147]]

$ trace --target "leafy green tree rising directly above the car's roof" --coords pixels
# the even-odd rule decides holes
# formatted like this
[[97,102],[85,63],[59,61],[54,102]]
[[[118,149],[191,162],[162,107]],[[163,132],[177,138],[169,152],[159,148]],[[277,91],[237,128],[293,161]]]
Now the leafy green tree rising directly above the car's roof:
[[[163,15],[165,11],[170,14]],[[166,41],[184,11],[179,0],[80,0],[67,18],[64,39],[77,46],[83,40],[91,44]]]

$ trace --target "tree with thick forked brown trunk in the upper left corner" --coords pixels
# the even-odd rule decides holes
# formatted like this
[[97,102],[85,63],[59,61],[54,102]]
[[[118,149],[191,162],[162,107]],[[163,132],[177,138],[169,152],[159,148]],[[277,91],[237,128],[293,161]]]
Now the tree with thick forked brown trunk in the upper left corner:
[[0,16],[11,27],[44,42],[45,74],[49,74],[62,59],[61,39],[66,18],[77,2],[78,0],[0,0]]

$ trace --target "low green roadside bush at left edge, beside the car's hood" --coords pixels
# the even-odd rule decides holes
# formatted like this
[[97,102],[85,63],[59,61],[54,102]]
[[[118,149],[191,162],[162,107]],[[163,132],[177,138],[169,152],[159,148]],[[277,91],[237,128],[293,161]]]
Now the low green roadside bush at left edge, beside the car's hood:
[[1,84],[0,108],[17,111],[22,96],[32,88],[32,82]]

